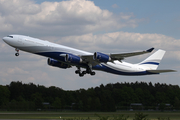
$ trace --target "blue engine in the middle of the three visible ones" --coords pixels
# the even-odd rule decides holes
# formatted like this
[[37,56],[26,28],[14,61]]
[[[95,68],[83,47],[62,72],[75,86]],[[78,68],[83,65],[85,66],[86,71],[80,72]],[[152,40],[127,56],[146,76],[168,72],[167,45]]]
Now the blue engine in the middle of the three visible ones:
[[66,62],[71,62],[71,63],[81,63],[82,59],[79,56],[76,56],[76,55],[66,54],[65,61]]

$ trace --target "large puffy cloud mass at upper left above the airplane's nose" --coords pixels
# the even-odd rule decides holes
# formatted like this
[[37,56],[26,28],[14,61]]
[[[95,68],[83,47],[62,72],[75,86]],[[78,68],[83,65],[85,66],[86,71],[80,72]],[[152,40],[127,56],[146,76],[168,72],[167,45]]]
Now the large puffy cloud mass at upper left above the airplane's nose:
[[136,27],[139,21],[132,13],[116,15],[86,0],[41,4],[30,0],[0,0],[0,31],[3,33],[82,35]]

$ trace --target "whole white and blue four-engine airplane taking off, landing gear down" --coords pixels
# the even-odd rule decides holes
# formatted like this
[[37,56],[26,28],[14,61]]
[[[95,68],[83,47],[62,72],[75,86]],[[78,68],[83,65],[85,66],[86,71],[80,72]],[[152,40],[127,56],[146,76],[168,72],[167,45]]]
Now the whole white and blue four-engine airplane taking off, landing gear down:
[[[80,77],[85,74],[95,75],[93,70],[100,70],[117,75],[138,76],[152,75],[175,70],[157,70],[165,51],[157,50],[144,61],[131,64],[123,61],[125,58],[150,53],[154,48],[140,52],[129,53],[102,53],[86,52],[75,48],[55,44],[46,40],[40,40],[24,35],[8,35],[3,41],[15,48],[15,56],[19,56],[19,50],[48,57],[47,64],[62,69],[77,67],[75,71]],[[84,71],[81,68],[85,69]]]

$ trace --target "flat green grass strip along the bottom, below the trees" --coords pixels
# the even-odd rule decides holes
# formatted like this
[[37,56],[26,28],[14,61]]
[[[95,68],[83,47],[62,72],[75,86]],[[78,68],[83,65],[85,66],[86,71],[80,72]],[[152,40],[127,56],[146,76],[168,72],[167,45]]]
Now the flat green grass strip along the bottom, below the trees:
[[[97,115],[113,118],[114,116],[129,116],[127,120],[133,120],[135,111],[123,112],[0,112],[0,119],[96,119]],[[149,120],[158,120],[160,118],[170,118],[170,120],[180,120],[180,112],[142,112],[147,114]]]

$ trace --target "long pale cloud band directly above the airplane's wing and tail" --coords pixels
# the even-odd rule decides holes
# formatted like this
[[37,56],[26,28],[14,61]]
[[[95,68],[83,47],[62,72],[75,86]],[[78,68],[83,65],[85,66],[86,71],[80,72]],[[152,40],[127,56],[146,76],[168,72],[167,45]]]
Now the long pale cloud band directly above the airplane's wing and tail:
[[[117,52],[123,50],[141,50],[150,47],[179,51],[180,40],[162,34],[140,34],[129,32],[112,32],[93,35],[92,33],[80,36],[62,37],[60,44],[71,44],[84,50],[101,50]],[[88,47],[87,47],[88,45]],[[92,49],[93,48],[93,49]]]

